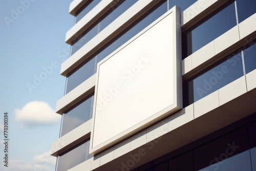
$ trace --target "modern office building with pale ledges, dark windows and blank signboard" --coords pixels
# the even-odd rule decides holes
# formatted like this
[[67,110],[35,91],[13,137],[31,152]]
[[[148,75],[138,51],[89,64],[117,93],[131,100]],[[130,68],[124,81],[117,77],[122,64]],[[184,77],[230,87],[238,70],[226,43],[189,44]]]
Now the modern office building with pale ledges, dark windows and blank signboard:
[[74,0],[56,170],[256,171],[255,0]]

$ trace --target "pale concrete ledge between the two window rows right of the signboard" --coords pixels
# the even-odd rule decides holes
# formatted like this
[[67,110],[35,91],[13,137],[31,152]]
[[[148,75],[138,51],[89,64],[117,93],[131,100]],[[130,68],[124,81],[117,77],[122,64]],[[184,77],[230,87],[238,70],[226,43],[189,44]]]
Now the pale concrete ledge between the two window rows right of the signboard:
[[[250,25],[246,27],[248,23],[256,23],[256,14],[253,14],[253,16],[244,20],[241,24],[231,28],[215,40],[209,42],[209,44],[189,55],[186,57],[187,59],[183,59],[183,81],[196,75],[227,55],[245,47],[250,41],[256,38],[256,24],[255,27],[249,27]],[[241,29],[244,29],[244,31],[241,32]]]

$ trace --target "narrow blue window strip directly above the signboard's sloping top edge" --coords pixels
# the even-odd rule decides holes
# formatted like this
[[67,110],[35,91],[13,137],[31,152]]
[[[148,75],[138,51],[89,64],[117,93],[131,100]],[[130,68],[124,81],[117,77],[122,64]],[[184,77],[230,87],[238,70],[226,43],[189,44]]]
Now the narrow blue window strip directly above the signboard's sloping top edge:
[[110,46],[106,47],[97,55],[97,63],[104,59],[106,56],[114,52],[120,46],[122,46],[126,41],[130,40],[133,36],[138,34],[148,25],[153,23],[157,18],[167,12],[167,1],[155,9],[152,13],[143,18],[138,24],[133,26],[129,31],[124,33],[121,37],[115,40]]

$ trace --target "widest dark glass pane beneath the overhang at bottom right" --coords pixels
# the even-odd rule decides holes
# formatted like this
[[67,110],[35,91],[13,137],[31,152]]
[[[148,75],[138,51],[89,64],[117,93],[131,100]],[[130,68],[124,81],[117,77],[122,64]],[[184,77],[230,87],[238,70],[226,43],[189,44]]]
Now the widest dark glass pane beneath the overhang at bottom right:
[[251,171],[247,129],[243,127],[194,149],[195,170]]

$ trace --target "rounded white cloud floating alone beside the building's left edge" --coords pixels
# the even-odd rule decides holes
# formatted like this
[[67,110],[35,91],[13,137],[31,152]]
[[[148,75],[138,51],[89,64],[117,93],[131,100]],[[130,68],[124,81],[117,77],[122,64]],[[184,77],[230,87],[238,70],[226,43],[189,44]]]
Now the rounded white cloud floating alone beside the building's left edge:
[[56,114],[51,106],[44,101],[31,101],[21,110],[15,109],[15,120],[21,122],[23,126],[49,125],[60,120],[60,115]]

